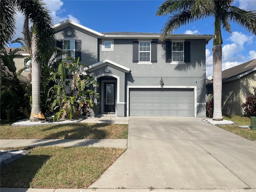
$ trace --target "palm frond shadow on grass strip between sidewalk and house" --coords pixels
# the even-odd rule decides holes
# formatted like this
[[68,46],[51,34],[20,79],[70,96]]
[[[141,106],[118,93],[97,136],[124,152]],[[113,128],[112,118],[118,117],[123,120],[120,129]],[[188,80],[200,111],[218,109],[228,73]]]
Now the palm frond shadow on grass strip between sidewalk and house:
[[[107,136],[106,130],[103,128],[109,124],[88,124],[88,123],[75,123],[75,124],[58,124],[48,127],[42,131],[52,131],[45,136],[44,139],[104,139]],[[63,126],[66,128],[63,129]],[[59,131],[58,131],[59,130]]]

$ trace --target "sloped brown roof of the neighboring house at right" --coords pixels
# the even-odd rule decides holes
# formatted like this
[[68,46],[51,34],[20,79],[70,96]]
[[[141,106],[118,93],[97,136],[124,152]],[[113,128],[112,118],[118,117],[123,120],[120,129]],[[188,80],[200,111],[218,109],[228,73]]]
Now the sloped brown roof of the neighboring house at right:
[[[222,82],[240,79],[254,71],[256,71],[256,59],[222,71]],[[206,84],[210,84],[211,82],[211,80],[206,79]]]

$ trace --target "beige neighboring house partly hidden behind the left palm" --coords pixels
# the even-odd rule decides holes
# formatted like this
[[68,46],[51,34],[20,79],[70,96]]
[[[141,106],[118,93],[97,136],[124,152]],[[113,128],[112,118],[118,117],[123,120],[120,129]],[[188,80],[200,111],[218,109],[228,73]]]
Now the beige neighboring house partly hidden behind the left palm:
[[[16,48],[6,48],[6,52],[8,53],[10,49],[12,49],[13,51]],[[16,72],[18,72],[21,68],[24,68],[25,66],[29,66],[29,62],[28,63],[26,62],[28,56],[29,54],[26,51],[17,52],[17,56],[13,59],[15,62]],[[30,69],[26,69],[20,74],[19,76],[20,82],[26,83],[28,81],[27,76],[29,74],[29,71]]]

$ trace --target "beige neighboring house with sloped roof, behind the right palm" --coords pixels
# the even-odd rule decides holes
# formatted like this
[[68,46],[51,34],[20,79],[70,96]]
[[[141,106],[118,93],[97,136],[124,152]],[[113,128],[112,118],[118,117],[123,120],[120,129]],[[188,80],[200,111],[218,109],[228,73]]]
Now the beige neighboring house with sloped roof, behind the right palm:
[[[222,114],[242,115],[242,103],[256,86],[256,59],[222,71]],[[208,101],[213,99],[212,81],[206,79]]]

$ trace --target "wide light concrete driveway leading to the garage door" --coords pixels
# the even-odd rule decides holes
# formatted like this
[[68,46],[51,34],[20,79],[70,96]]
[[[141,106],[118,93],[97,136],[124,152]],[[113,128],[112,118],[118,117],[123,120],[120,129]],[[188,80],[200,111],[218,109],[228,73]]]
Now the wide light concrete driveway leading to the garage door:
[[256,188],[256,142],[199,118],[130,117],[128,149],[90,188],[150,187]]

